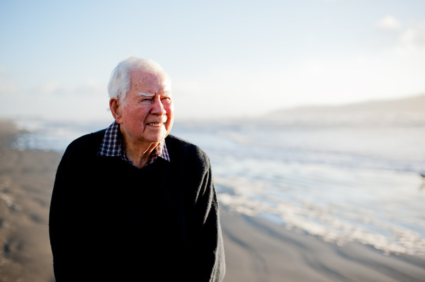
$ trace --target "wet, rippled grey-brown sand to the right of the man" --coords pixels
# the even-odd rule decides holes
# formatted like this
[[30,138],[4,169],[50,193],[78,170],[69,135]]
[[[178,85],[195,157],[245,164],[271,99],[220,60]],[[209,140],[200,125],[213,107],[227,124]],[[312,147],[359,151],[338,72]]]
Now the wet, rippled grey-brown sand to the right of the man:
[[221,208],[232,281],[425,281],[425,258],[386,255],[361,243],[336,245],[265,218]]

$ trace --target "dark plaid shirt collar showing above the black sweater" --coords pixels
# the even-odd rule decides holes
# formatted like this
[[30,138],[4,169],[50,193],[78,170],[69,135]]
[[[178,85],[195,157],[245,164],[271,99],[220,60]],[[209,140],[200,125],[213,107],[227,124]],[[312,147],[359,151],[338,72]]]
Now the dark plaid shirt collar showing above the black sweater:
[[[101,143],[101,148],[99,148],[98,155],[103,155],[106,157],[120,157],[123,160],[127,161],[128,163],[132,163],[131,160],[129,160],[125,156],[124,148],[121,146],[121,138],[120,138],[120,124],[118,122],[114,121],[107,129],[105,136],[103,136],[103,140]],[[154,161],[161,157],[164,160],[170,161],[170,156],[168,153],[168,150],[166,149],[165,141],[162,140],[159,142],[158,146],[152,151],[149,160],[147,161],[146,165],[149,165],[151,163],[154,163]]]

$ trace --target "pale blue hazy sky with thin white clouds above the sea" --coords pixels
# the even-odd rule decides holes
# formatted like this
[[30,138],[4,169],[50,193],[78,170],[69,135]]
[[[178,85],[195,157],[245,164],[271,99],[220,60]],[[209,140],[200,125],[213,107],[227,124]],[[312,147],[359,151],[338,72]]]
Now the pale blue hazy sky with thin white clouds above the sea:
[[0,117],[111,119],[118,61],[154,59],[176,117],[425,93],[425,1],[0,1]]

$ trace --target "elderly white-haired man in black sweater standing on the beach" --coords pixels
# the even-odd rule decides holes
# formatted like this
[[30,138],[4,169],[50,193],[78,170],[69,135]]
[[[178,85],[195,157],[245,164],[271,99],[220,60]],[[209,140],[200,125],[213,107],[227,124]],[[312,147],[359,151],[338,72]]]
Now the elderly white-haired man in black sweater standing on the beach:
[[130,57],[108,91],[115,121],[73,141],[57,169],[50,206],[57,282],[222,281],[210,161],[169,135],[169,76]]

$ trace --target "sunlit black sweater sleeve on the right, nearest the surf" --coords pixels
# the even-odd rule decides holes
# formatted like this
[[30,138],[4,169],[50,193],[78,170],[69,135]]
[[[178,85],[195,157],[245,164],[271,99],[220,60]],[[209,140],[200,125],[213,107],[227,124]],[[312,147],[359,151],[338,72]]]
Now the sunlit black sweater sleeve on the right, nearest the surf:
[[195,218],[198,235],[194,244],[193,269],[198,277],[193,281],[220,282],[225,276],[225,251],[210,162],[205,168],[200,189],[196,196]]

